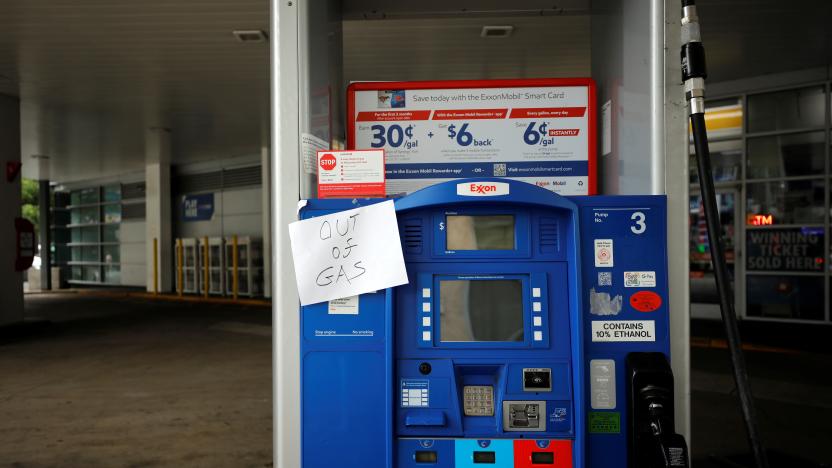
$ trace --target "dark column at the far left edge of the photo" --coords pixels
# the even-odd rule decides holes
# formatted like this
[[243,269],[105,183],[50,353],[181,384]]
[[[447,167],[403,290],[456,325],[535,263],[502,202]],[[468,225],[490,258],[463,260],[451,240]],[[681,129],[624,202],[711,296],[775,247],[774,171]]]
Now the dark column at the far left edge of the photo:
[[14,271],[20,216],[20,178],[6,178],[6,164],[20,162],[20,101],[0,94],[0,325],[23,321],[23,273]]

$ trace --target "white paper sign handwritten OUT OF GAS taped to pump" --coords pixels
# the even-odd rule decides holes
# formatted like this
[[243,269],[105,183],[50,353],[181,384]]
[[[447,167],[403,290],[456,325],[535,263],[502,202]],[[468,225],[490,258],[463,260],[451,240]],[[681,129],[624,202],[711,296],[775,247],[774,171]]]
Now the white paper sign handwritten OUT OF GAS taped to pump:
[[407,284],[392,201],[289,225],[302,305]]

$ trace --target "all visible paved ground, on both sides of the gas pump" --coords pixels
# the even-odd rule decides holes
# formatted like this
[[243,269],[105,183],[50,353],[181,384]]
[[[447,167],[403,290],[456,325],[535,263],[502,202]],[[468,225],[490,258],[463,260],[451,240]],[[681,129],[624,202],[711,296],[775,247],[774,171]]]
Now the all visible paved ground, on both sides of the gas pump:
[[[271,466],[268,309],[28,295],[0,339],[0,466]],[[832,464],[832,355],[748,352],[766,443]],[[692,350],[696,468],[746,451],[728,354]],[[749,465],[746,465],[749,466]]]

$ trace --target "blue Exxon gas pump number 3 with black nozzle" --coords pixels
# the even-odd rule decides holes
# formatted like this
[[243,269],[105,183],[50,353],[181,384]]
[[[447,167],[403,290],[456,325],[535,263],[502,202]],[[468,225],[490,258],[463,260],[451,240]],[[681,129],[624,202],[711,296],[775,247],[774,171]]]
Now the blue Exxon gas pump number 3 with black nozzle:
[[395,206],[409,283],[301,308],[303,467],[687,466],[664,196],[468,179]]

